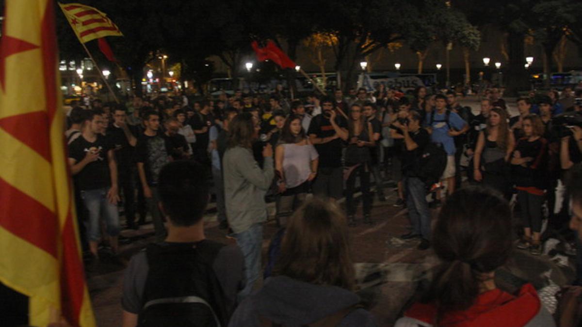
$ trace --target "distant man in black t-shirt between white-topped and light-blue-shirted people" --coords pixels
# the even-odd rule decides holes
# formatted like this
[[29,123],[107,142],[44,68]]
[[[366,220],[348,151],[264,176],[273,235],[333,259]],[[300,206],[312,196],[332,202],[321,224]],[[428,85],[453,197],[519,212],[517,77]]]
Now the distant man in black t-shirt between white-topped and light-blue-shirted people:
[[210,127],[214,125],[214,116],[210,112],[210,103],[203,101],[200,104],[200,111],[195,112],[192,116],[190,126],[196,134],[196,143],[194,143],[194,159],[204,165],[209,165],[208,143],[210,142]]

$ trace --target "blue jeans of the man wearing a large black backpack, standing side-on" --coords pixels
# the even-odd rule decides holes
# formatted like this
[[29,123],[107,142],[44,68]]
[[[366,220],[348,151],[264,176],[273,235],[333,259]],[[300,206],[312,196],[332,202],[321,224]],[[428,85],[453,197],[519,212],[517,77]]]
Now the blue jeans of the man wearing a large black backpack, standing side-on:
[[430,240],[431,212],[428,209],[424,182],[418,177],[404,177],[404,186],[412,233],[420,234],[423,239]]

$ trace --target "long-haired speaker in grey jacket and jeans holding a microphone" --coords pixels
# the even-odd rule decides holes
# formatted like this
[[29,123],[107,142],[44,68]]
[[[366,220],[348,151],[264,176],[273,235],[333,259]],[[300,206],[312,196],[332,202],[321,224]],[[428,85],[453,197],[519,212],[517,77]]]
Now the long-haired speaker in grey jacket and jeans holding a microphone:
[[237,115],[229,126],[228,149],[223,157],[226,216],[233,236],[244,255],[247,284],[239,300],[248,296],[260,276],[262,222],[267,220],[265,193],[274,177],[273,149],[263,148],[261,169],[253,158],[252,143],[260,128],[250,113]]

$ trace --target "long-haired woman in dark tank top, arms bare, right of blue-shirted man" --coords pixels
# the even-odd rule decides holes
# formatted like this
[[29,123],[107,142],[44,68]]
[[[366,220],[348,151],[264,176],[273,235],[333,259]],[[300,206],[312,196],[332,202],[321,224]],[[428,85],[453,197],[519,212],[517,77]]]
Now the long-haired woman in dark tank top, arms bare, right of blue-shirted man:
[[487,127],[480,131],[473,158],[474,179],[485,186],[509,193],[508,161],[515,140],[509,130],[507,112],[499,107],[491,109]]

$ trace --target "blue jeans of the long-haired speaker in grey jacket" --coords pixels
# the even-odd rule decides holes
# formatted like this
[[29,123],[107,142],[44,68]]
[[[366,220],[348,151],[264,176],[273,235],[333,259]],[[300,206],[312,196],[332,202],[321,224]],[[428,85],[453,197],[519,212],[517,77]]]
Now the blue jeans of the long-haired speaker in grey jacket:
[[239,292],[239,303],[250,295],[261,276],[262,223],[255,223],[244,232],[234,234],[236,244],[244,255],[244,277],[247,282]]

